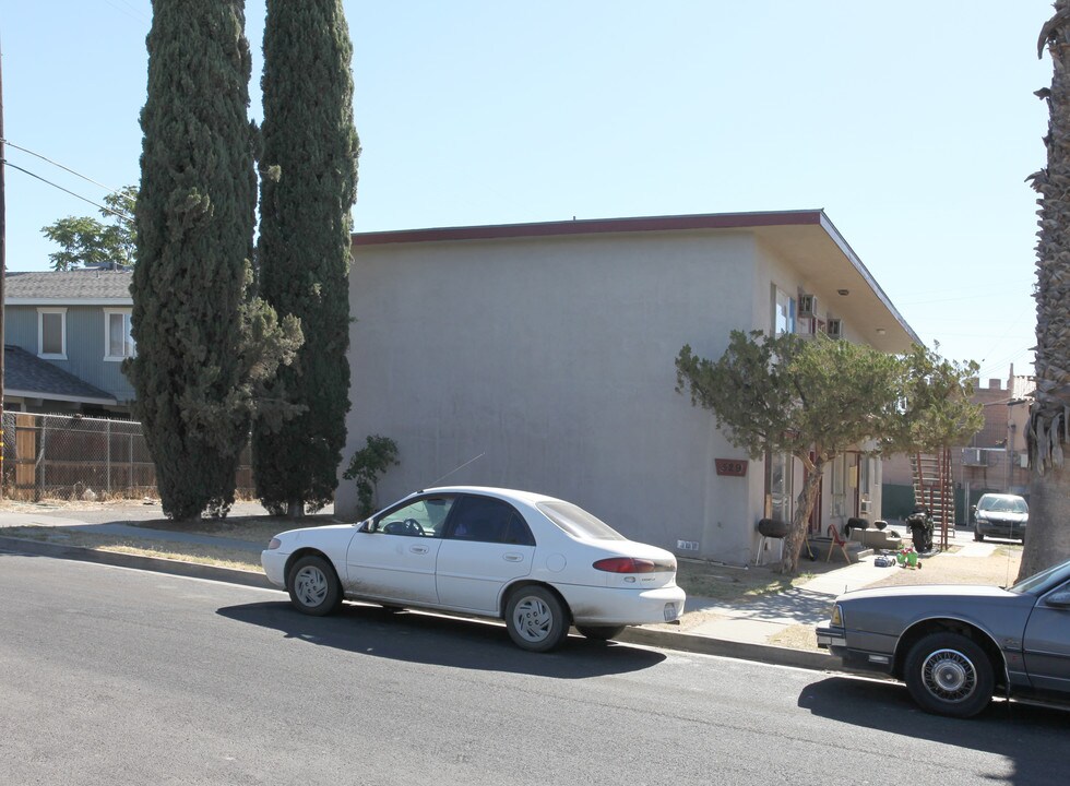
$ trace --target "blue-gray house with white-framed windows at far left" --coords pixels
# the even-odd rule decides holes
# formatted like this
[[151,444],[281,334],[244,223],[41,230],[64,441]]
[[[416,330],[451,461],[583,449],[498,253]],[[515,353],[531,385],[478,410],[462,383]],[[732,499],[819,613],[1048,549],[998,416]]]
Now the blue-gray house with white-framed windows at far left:
[[5,410],[129,416],[134,352],[128,271],[8,273]]

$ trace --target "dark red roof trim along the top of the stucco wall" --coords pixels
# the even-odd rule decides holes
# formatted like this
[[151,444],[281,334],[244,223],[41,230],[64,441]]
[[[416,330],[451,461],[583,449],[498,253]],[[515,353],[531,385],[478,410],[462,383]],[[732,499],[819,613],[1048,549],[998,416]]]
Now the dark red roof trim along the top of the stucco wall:
[[679,231],[687,229],[748,229],[764,226],[820,225],[822,211],[781,213],[709,213],[702,215],[656,216],[649,218],[594,218],[546,222],[542,224],[500,224],[497,226],[403,229],[400,231],[355,233],[354,246],[439,242],[448,240],[496,240],[501,238],[605,235],[610,233]]

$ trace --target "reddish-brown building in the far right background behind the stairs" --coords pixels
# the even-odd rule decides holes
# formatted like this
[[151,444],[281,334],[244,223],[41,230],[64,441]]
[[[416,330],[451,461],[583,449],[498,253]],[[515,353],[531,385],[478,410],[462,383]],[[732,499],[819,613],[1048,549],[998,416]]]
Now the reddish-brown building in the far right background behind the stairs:
[[[955,489],[955,521],[968,521],[968,507],[982,495],[995,491],[1029,497],[1030,469],[1026,430],[1030,404],[1036,381],[1014,373],[1010,367],[1007,381],[988,380],[987,386],[974,380],[971,401],[982,406],[985,425],[968,445],[951,446],[951,478]],[[884,515],[904,519],[914,504],[913,473],[910,457],[884,460]],[[968,497],[970,502],[965,499]]]

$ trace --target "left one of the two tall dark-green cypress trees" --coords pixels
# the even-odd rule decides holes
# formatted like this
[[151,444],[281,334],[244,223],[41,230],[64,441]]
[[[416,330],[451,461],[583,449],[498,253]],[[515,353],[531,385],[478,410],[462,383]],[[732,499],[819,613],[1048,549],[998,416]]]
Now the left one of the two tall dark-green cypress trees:
[[[238,455],[299,323],[250,297],[255,211],[250,55],[240,0],[153,3],[141,114],[132,331],[136,391],[164,512],[225,515]],[[273,405],[273,406],[272,406]]]

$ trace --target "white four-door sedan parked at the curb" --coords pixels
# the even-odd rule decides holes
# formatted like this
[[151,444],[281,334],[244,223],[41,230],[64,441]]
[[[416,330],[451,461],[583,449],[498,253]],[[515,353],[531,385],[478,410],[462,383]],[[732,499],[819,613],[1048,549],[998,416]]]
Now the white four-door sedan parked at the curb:
[[358,524],[281,533],[261,562],[305,614],[331,614],[352,598],[494,617],[533,652],[559,645],[573,624],[609,640],[683,612],[671,552],[527,491],[420,491]]

